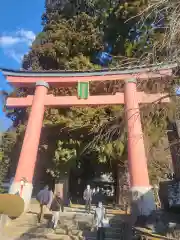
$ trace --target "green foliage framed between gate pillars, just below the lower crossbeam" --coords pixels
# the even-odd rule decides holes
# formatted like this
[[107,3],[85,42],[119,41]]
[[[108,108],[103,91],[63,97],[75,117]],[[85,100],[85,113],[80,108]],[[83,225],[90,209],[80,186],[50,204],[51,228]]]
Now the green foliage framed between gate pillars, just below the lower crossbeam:
[[87,155],[92,159],[94,156],[100,163],[120,161],[125,152],[125,140],[119,135],[119,126],[116,128],[114,124],[120,121],[121,114],[121,106],[47,110],[44,123],[46,126],[56,124],[58,129],[57,140],[52,143],[56,144],[53,164],[48,172],[59,178]]

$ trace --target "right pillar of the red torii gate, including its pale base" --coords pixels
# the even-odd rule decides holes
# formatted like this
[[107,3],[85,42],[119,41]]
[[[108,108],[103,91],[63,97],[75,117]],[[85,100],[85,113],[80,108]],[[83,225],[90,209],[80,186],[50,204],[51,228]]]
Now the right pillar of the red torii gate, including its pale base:
[[132,214],[148,216],[156,207],[149,182],[136,82],[134,78],[126,80],[124,89]]

